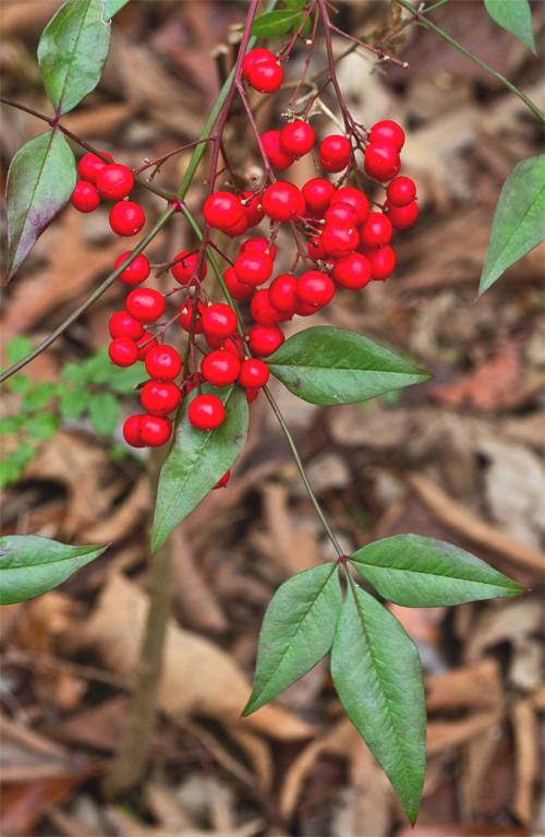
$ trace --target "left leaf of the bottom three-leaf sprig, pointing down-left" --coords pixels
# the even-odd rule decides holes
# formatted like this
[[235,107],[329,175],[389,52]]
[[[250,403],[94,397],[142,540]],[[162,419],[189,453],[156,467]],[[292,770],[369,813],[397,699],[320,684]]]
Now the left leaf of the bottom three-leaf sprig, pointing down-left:
[[336,564],[298,573],[267,608],[259,634],[250,715],[306,674],[331,647],[342,607]]

